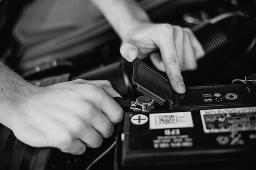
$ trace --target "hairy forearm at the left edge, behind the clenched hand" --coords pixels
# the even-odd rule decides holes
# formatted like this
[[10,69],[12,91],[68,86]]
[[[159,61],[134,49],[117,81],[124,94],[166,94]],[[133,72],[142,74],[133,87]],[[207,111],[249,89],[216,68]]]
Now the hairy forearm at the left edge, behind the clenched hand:
[[28,85],[28,82],[0,62],[0,123],[11,128],[17,114],[23,114],[23,103],[29,95]]

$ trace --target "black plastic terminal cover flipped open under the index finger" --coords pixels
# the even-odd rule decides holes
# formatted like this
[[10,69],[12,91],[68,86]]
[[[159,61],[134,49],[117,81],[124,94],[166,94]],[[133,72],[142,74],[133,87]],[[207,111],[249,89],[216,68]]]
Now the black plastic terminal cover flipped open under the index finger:
[[158,104],[169,101],[170,106],[178,106],[178,96],[172,90],[168,78],[164,77],[140,59],[133,62],[133,82],[137,91],[151,97]]

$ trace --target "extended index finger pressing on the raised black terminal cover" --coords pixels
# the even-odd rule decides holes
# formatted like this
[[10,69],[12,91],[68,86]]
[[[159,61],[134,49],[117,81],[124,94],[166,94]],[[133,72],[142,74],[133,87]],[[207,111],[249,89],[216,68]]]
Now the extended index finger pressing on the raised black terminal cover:
[[[183,94],[186,91],[183,77],[180,73],[180,62],[177,57],[177,51],[175,46],[174,31],[171,26],[168,26],[169,30],[161,32],[155,40],[165,65],[166,74],[169,77],[172,88],[177,93]],[[162,34],[163,33],[163,34]],[[169,38],[166,38],[168,36]]]

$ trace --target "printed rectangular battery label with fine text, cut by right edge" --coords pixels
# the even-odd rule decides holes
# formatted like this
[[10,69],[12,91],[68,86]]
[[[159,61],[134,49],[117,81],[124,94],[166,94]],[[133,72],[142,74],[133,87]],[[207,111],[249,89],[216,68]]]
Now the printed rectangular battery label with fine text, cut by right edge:
[[256,107],[201,110],[204,133],[256,130]]

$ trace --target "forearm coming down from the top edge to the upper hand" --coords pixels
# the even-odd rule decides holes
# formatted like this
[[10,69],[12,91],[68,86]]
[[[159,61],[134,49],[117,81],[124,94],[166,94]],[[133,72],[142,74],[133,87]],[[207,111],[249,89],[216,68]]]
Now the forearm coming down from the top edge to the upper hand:
[[149,23],[146,12],[134,0],[91,0],[122,40],[142,23]]

